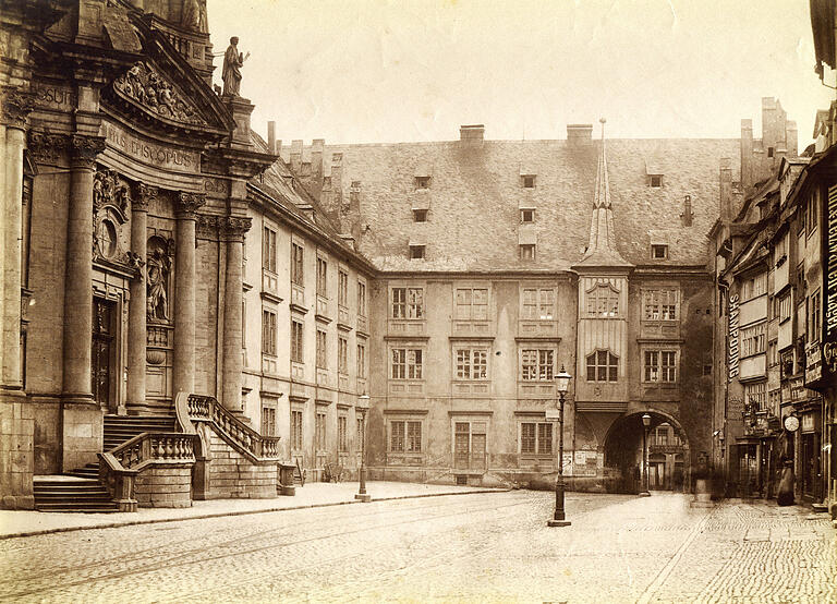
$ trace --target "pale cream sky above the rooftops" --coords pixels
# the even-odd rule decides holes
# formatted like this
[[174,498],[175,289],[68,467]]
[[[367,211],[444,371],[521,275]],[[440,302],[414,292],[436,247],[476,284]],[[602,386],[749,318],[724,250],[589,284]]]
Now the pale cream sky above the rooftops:
[[813,71],[808,0],[207,4],[214,51],[239,36],[252,52],[253,128],[266,136],[276,120],[286,144],[450,141],[466,123],[563,138],[602,116],[614,137],[738,137],[742,118],[759,136],[761,98],[775,96],[802,150],[834,97]]

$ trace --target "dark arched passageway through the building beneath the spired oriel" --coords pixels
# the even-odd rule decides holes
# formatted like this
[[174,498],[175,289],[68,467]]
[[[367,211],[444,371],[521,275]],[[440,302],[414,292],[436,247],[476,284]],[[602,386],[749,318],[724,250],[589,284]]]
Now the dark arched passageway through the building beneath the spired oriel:
[[[642,415],[631,413],[617,419],[605,438],[605,488],[608,493],[639,493],[642,488]],[[648,426],[648,488],[682,491],[687,484],[689,443],[674,418],[655,411]]]

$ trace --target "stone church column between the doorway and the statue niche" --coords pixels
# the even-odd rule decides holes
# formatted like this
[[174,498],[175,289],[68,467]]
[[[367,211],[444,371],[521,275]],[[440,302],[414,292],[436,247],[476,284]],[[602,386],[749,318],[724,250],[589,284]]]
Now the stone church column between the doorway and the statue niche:
[[140,183],[131,202],[131,250],[136,255],[140,277],[131,281],[128,306],[128,406],[145,404],[145,346],[147,283],[145,262],[148,253],[148,203],[157,196],[156,186]]

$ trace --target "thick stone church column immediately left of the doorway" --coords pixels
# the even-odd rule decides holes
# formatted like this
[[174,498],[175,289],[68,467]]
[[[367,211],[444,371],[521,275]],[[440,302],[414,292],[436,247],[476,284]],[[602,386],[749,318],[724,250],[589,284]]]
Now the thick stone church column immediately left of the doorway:
[[96,156],[105,149],[105,138],[74,134],[71,144],[62,397],[72,402],[89,402],[93,400],[93,180]]

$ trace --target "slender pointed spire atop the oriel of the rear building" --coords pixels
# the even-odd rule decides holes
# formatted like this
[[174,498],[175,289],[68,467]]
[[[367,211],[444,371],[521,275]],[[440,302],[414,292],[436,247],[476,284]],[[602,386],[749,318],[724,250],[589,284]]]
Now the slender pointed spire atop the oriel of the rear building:
[[596,186],[593,195],[593,217],[590,221],[590,243],[578,266],[631,266],[616,249],[614,212],[610,206],[610,179],[607,174],[605,118],[602,124],[602,153],[598,156]]

